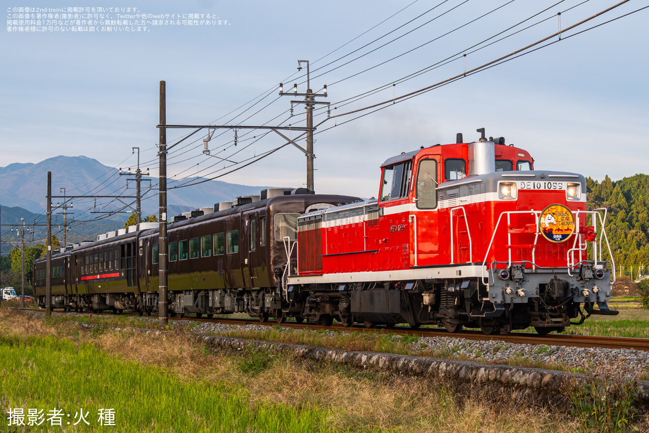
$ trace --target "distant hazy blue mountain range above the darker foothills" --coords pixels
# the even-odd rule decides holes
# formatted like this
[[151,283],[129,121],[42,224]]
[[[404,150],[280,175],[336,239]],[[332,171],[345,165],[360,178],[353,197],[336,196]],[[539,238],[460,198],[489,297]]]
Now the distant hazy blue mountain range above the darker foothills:
[[[119,171],[114,167],[108,167],[99,161],[88,158],[87,156],[56,156],[38,162],[37,164],[9,164],[6,167],[0,167],[0,203],[5,206],[19,206],[31,212],[42,212],[47,206],[47,172],[52,172],[52,195],[60,196],[53,198],[53,204],[63,203],[63,188],[65,194],[73,195],[112,195],[119,192],[127,186],[127,179],[134,179],[134,176],[119,175]],[[142,213],[145,215],[158,213],[158,195],[156,191],[148,194],[148,180],[156,186],[157,178],[142,177],[141,184],[142,195],[145,197],[142,201]],[[147,179],[147,181],[145,181]],[[192,178],[184,180],[194,181],[203,180],[201,178]],[[175,180],[169,180],[167,187],[172,188],[178,184]],[[128,182],[129,190],[127,194],[135,195],[135,182]],[[204,206],[213,206],[220,201],[230,201],[239,195],[259,194],[260,190],[267,188],[265,186],[246,186],[239,184],[230,184],[219,180],[206,180],[201,184],[187,188],[169,189],[167,192],[167,203],[169,206],[186,206],[186,208],[199,208]],[[80,204],[82,200],[75,200],[74,212],[86,210]],[[95,209],[102,208],[116,210],[121,204],[109,197],[85,200],[86,207]],[[114,202],[114,203],[111,203]],[[108,206],[107,208],[104,206]],[[73,210],[69,210],[73,212]],[[167,212],[173,215],[172,212]],[[127,216],[128,217],[128,216]]]

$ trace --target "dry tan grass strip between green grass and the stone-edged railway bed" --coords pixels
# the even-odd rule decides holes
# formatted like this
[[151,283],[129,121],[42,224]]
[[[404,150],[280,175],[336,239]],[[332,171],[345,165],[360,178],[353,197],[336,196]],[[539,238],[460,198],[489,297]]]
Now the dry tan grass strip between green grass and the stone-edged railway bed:
[[432,378],[359,371],[274,353],[213,349],[183,332],[156,336],[85,331],[73,323],[37,320],[2,308],[0,334],[88,341],[116,358],[154,365],[188,382],[243,386],[253,401],[330,410],[328,427],[333,431],[500,433],[574,432],[578,428],[565,415],[526,407],[508,395],[485,400],[479,393],[459,394]]

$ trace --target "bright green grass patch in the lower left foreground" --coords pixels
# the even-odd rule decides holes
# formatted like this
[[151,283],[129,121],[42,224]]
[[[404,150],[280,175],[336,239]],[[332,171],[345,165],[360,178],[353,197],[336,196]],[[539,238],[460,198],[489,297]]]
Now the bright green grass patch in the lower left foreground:
[[[221,384],[182,382],[167,371],[111,358],[88,343],[0,337],[0,431],[317,432],[327,413],[313,408],[253,403],[247,392]],[[9,426],[8,411],[43,410],[38,427]],[[52,426],[53,410],[62,426]],[[114,409],[102,426],[100,409]],[[86,420],[77,414],[88,412]],[[69,416],[67,416],[69,415]],[[1,420],[0,420],[1,421]],[[67,424],[69,423],[69,425]]]

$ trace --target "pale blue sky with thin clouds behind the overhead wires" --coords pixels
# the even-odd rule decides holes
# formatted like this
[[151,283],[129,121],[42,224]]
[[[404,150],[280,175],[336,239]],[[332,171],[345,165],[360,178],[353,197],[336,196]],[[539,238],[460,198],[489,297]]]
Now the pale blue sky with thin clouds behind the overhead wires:
[[[84,10],[70,19],[69,3],[47,3],[55,10],[27,12],[36,20],[27,26],[19,8],[31,6],[3,6],[0,166],[84,155],[134,168],[138,147],[141,167],[157,175],[160,80],[170,125],[305,127],[304,105],[290,113],[291,101],[303,97],[280,96],[278,86],[290,92],[297,83],[306,92],[297,60],[309,60],[312,90],[327,85],[328,96],[316,100],[341,115],[326,119],[324,105],[315,112],[318,193],[376,196],[380,164],[390,156],[454,143],[457,132],[474,141],[481,127],[529,151],[537,169],[598,180],[649,173],[649,8],[639,10],[646,1],[630,0],[574,29],[618,2],[117,1],[75,3]],[[559,29],[560,39],[471,73]],[[363,110],[464,71],[467,77]],[[167,145],[190,132],[168,130]],[[299,149],[289,144],[260,158],[286,140],[239,129],[235,146],[234,134],[212,134],[210,154],[225,161],[202,152],[206,131],[179,143],[167,175],[181,184],[199,175],[304,186]],[[297,143],[306,147],[304,137]]]

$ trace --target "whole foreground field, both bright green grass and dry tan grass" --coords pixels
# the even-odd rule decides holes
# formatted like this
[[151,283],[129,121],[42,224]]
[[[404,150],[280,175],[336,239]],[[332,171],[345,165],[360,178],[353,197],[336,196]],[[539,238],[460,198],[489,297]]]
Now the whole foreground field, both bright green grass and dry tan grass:
[[[61,427],[0,431],[574,432],[576,419],[511,395],[485,401],[434,378],[361,371],[266,351],[37,320],[0,308],[0,410],[53,409]],[[114,408],[115,427],[99,425]],[[86,419],[77,426],[75,416]],[[27,418],[25,418],[27,422]],[[47,423],[47,421],[45,421]],[[597,431],[597,430],[583,430]]]

